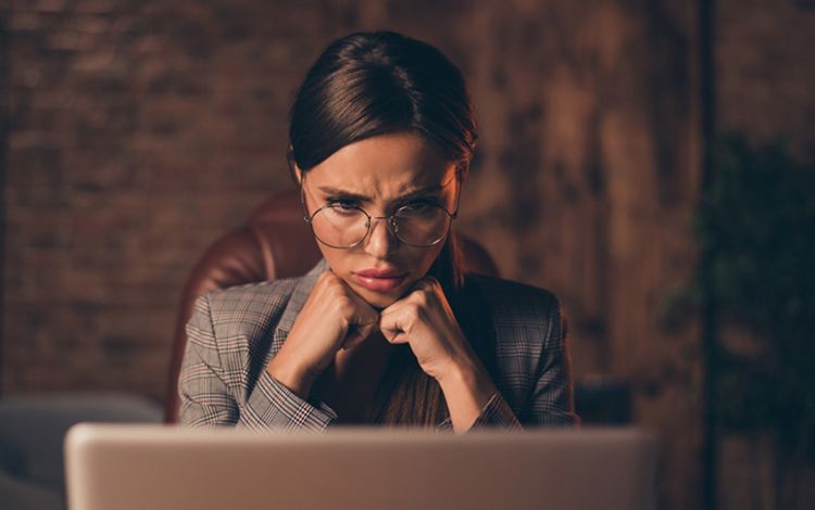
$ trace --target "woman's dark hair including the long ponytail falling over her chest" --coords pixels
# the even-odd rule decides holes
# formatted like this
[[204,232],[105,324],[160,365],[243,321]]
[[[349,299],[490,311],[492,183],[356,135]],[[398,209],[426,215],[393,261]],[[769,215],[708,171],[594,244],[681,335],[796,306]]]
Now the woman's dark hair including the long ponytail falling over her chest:
[[[464,77],[425,42],[393,31],[351,34],[323,51],[297,92],[289,165],[308,171],[346,145],[399,132],[436,144],[463,179],[477,139]],[[466,310],[456,306],[464,271],[453,232],[429,275],[441,283],[466,332]],[[406,345],[397,346],[376,400],[371,416],[375,422],[434,425],[446,413],[438,384]]]

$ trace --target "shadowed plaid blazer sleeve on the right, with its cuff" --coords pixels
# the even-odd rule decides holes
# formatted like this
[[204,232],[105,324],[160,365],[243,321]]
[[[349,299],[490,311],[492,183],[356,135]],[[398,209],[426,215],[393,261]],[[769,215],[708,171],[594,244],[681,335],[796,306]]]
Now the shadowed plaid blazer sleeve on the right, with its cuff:
[[512,430],[524,426],[580,423],[574,410],[572,356],[566,342],[566,320],[554,297],[547,309],[547,324],[541,355],[535,372],[535,383],[521,416],[516,417],[501,393],[497,392],[485,405],[471,430],[481,428]]

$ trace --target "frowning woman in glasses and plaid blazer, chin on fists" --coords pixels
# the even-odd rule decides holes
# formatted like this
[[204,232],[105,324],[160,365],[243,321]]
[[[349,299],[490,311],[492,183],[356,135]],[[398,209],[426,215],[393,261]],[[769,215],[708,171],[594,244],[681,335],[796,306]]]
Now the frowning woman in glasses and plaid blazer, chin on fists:
[[399,34],[352,34],[312,66],[290,120],[290,169],[324,258],[302,278],[197,301],[181,423],[574,423],[554,296],[462,269],[450,227],[476,126],[459,69]]

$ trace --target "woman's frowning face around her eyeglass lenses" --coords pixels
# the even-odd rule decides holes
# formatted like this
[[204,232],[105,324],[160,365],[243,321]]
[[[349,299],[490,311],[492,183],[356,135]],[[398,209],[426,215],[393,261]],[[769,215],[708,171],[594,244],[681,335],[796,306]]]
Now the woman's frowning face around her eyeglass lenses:
[[[410,133],[346,145],[306,171],[304,180],[298,174],[310,216],[331,203],[389,216],[403,205],[434,201],[452,213],[461,186],[455,165]],[[391,233],[386,219],[374,219],[367,237],[351,248],[317,245],[338,277],[372,306],[385,308],[427,273],[443,241],[430,247],[412,246]]]

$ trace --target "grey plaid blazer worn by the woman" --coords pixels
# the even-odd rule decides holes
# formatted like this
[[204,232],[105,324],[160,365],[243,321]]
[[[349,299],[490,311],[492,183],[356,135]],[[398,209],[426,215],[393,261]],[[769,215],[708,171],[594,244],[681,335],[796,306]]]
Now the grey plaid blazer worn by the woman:
[[[327,267],[323,259],[301,278],[234,286],[196,301],[178,381],[181,424],[322,431],[337,419],[319,395],[305,400],[266,371]],[[498,388],[471,430],[578,422],[565,324],[554,295],[480,275],[468,275],[466,285],[476,288],[486,305]],[[437,429],[452,429],[450,418]]]

